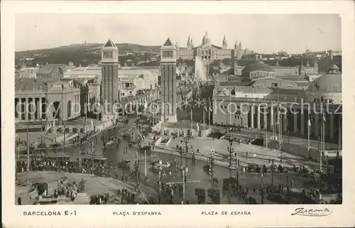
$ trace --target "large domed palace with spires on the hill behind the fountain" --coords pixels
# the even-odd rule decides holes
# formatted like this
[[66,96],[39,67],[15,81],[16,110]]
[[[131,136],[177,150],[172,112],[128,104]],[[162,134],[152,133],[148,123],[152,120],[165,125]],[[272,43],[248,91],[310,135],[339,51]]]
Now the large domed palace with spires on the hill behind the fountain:
[[202,58],[204,63],[211,63],[214,60],[224,60],[226,58],[235,58],[241,59],[241,56],[252,54],[253,51],[248,50],[247,48],[243,49],[241,42],[236,42],[233,49],[229,49],[226,36],[222,40],[222,47],[211,44],[211,40],[207,32],[202,38],[202,44],[197,47],[194,46],[192,38],[187,39],[187,47],[179,47],[178,43],[176,47],[176,58],[182,60],[193,60],[196,56]]

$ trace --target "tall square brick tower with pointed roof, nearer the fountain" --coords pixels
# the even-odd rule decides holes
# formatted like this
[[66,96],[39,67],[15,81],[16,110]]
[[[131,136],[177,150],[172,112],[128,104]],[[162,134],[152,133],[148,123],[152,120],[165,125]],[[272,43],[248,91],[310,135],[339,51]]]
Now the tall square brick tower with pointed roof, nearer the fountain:
[[176,48],[170,38],[161,50],[161,120],[177,122],[176,117]]

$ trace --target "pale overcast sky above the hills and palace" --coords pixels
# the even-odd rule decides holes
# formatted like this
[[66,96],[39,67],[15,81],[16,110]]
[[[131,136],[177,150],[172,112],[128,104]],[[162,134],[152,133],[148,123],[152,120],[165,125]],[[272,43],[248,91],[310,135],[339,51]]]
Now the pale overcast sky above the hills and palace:
[[202,43],[205,31],[211,43],[228,48],[236,40],[259,53],[284,50],[341,48],[341,18],[332,14],[214,15],[214,14],[18,14],[16,50],[55,48],[72,43],[163,45],[170,37],[186,46],[187,37]]

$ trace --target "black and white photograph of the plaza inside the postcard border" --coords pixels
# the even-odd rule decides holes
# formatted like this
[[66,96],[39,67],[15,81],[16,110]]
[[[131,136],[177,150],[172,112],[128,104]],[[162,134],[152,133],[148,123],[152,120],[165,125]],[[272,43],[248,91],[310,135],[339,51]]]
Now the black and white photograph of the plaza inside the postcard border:
[[342,203],[341,18],[198,17],[18,15],[18,205]]

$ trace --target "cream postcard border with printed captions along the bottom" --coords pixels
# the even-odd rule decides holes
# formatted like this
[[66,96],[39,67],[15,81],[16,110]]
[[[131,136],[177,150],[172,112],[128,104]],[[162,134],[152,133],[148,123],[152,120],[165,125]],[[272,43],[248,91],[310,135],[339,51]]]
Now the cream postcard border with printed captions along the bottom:
[[[354,226],[354,2],[353,1],[38,1],[1,2],[1,156],[4,227],[344,227]],[[342,17],[343,204],[305,205],[328,208],[326,217],[291,213],[302,205],[50,205],[15,206],[13,63],[15,13],[339,13]],[[55,26],[55,25],[53,25]],[[292,29],[292,28],[290,28]],[[77,215],[23,216],[25,211],[76,211]],[[113,212],[160,212],[161,216],[113,215]],[[219,215],[202,216],[202,212]],[[251,215],[221,215],[250,211]],[[352,222],[351,222],[352,221]]]

